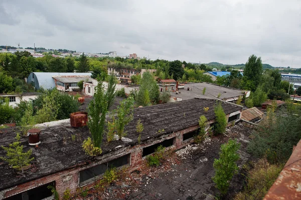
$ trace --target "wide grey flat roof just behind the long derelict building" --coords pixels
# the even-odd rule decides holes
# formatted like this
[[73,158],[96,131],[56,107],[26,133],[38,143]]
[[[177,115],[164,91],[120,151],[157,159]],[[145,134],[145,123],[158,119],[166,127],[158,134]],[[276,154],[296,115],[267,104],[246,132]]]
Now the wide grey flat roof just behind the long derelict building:
[[[188,87],[190,88],[189,91],[187,90]],[[163,88],[163,91],[165,90],[165,86],[162,86],[161,88]],[[169,90],[171,90],[171,86],[168,88]],[[206,88],[205,95],[203,95],[204,88]],[[175,90],[176,87],[173,86],[173,89]],[[182,98],[183,100],[193,99],[193,98],[209,98],[209,99],[226,100],[229,98],[243,96],[245,90],[239,90],[235,88],[220,86],[217,84],[202,82],[202,83],[186,83],[184,85],[184,89],[179,89],[179,92],[181,93],[176,94],[176,92],[171,92],[171,94],[173,97],[179,97]],[[217,98],[219,93],[221,94],[221,96],[220,98]]]

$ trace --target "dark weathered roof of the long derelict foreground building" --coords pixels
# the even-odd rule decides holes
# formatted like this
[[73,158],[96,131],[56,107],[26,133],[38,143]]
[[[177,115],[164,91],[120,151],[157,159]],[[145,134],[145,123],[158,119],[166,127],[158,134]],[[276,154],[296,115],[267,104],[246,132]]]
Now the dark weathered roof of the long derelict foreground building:
[[[138,134],[136,132],[137,120],[140,119],[143,124],[141,132],[141,143],[148,140],[154,140],[162,135],[173,133],[191,126],[199,124],[201,115],[205,115],[208,120],[215,118],[214,99],[190,99],[180,102],[158,104],[142,108],[135,108],[133,120],[125,127],[129,140],[114,140],[110,143],[106,141],[106,134],[103,135],[101,145],[102,155],[114,152],[115,147],[126,149],[137,144]],[[204,113],[204,107],[209,107],[209,111]],[[226,114],[241,110],[242,107],[222,102],[222,107]],[[164,131],[162,131],[164,129]],[[159,131],[161,130],[161,131]],[[0,146],[8,146],[16,141],[16,133],[13,128],[1,129]],[[75,135],[75,140],[72,140]],[[48,174],[72,168],[77,165],[91,162],[91,157],[87,156],[82,148],[83,140],[90,136],[88,127],[73,128],[70,123],[59,126],[49,126],[41,131],[39,147],[30,146],[28,137],[23,136],[21,143],[24,145],[24,151],[32,149],[34,163],[38,168],[36,172],[30,170],[26,176],[16,174],[16,170],[9,167],[7,163],[0,162],[0,190],[6,189],[29,180],[34,180]],[[118,149],[120,149],[118,148]],[[0,156],[5,156],[5,151],[0,148]],[[93,161],[93,160],[92,160]]]

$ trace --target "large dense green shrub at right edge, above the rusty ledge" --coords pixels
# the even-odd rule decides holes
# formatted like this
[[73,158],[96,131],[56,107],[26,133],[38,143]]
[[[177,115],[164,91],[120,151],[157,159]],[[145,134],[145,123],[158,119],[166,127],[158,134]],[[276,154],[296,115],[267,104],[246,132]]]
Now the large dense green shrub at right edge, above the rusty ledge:
[[301,138],[301,117],[268,114],[253,132],[248,151],[255,157],[266,156],[272,164],[286,162]]

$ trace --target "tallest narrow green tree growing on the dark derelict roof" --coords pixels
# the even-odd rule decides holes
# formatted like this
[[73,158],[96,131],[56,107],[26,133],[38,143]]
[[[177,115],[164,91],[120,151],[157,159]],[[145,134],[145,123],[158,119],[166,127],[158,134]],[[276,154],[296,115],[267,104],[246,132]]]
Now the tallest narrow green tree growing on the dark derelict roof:
[[94,147],[100,148],[108,103],[106,101],[107,97],[104,93],[103,83],[100,79],[95,89],[94,99],[89,103],[88,127],[91,132]]

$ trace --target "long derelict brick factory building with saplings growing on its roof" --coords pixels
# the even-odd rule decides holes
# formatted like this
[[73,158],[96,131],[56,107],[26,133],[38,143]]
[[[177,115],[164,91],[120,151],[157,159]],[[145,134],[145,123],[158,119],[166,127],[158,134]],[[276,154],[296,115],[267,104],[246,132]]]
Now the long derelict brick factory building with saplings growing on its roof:
[[[135,108],[133,120],[125,128],[125,138],[108,143],[104,135],[102,154],[96,157],[89,157],[82,149],[83,140],[90,136],[88,127],[74,128],[69,123],[45,127],[38,147],[30,146],[28,138],[22,137],[24,150],[33,151],[34,164],[23,176],[8,163],[0,163],[0,199],[52,199],[52,193],[47,188],[49,184],[62,196],[66,189],[74,193],[77,188],[93,186],[95,180],[101,178],[110,166],[134,170],[159,145],[176,150],[190,144],[199,132],[198,121],[201,115],[207,117],[208,127],[209,124],[213,126],[214,106],[218,101],[222,104],[229,124],[240,119],[241,106],[214,99],[195,98]],[[209,107],[207,113],[204,107]],[[139,119],[144,127],[140,144],[136,132]],[[16,133],[12,128],[2,131],[0,146],[8,146],[15,141]],[[5,154],[1,148],[0,156]]]

